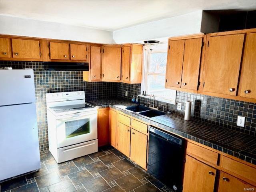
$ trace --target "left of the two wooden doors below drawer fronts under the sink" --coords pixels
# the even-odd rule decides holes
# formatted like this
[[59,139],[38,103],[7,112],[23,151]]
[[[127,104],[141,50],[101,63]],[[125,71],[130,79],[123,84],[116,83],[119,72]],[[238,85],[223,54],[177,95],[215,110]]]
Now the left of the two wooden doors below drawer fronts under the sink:
[[131,128],[118,122],[117,149],[130,157]]

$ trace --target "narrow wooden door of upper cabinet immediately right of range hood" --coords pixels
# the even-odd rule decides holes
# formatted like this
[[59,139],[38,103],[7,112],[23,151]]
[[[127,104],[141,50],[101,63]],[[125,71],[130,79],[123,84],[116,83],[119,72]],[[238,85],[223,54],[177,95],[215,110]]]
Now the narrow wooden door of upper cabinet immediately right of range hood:
[[90,46],[91,80],[100,80],[101,74],[101,47]]

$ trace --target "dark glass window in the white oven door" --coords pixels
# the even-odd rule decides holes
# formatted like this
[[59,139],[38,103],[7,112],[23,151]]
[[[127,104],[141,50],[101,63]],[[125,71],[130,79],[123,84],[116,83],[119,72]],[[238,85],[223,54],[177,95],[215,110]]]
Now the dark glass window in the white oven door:
[[90,118],[65,122],[66,138],[90,133]]

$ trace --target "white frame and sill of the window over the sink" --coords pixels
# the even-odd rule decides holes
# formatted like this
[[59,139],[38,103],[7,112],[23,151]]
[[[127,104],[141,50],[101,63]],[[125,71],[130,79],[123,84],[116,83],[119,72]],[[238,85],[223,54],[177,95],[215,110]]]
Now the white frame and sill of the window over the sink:
[[[143,65],[142,65],[142,82],[141,82],[141,95],[139,95],[140,97],[144,97],[144,98],[151,98],[151,95],[148,95],[148,75],[149,74],[156,74],[156,75],[161,75],[161,76],[165,76],[165,74],[161,74],[161,73],[151,73],[148,72],[148,68],[149,68],[149,64],[150,64],[150,54],[151,53],[160,53],[160,52],[167,52],[168,51],[168,44],[167,43],[162,43],[162,44],[158,44],[158,46],[156,48],[153,48],[152,51],[147,50],[146,46],[143,46],[143,50],[144,50],[144,57],[143,57]],[[143,91],[146,91],[146,96],[142,95]],[[155,100],[157,101],[161,101],[161,102],[166,102],[166,103],[170,103],[170,104],[176,104],[176,90],[169,90],[168,89],[168,94],[170,95],[170,99],[169,99],[169,95],[168,95],[168,99],[166,99],[166,97],[164,96],[155,96]]]

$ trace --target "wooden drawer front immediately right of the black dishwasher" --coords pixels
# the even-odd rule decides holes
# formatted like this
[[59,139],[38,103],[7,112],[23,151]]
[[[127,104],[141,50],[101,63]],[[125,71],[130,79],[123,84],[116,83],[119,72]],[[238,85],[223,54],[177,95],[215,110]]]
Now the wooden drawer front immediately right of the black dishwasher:
[[208,150],[206,148],[200,147],[196,144],[188,142],[187,153],[195,158],[205,160],[214,165],[217,165],[218,162],[218,153]]

